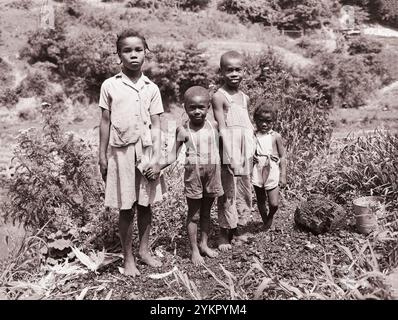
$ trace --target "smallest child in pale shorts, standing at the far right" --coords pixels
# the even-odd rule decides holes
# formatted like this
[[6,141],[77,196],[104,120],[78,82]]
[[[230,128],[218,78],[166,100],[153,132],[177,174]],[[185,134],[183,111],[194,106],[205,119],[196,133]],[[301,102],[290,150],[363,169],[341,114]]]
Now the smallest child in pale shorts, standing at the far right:
[[[256,108],[253,115],[256,123],[256,151],[252,183],[257,197],[258,211],[269,229],[279,205],[279,186],[286,186],[286,158],[282,137],[273,129],[276,111],[267,104]],[[267,214],[266,198],[269,211]]]

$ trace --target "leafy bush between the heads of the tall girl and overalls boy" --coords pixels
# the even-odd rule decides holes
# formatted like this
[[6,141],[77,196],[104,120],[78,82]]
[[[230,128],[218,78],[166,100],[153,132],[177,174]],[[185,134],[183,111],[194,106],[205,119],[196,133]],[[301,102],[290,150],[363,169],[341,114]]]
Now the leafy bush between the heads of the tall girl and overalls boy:
[[209,85],[209,69],[203,52],[193,43],[185,44],[182,50],[162,45],[153,49],[154,56],[145,73],[159,86],[166,106],[179,102],[193,85]]

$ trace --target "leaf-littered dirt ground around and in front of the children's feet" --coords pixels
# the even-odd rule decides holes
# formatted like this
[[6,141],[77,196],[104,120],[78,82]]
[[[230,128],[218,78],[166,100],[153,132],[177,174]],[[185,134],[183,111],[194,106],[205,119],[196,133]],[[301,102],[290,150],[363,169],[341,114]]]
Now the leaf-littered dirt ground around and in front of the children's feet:
[[[163,262],[161,268],[155,270],[138,260],[141,276],[126,277],[119,272],[119,259],[96,273],[81,275],[59,286],[49,298],[74,299],[85,292],[85,299],[104,299],[112,292],[111,299],[123,300],[253,299],[262,280],[267,277],[295,284],[299,290],[308,288],[309,284],[314,289],[314,284],[316,286],[317,281],[322,282],[326,277],[323,264],[326,263],[334,275],[342,272],[345,255],[338,245],[352,248],[366,240],[362,235],[354,235],[350,225],[347,225],[346,230],[324,236],[296,230],[294,209],[295,203],[283,201],[273,228],[264,232],[257,209],[254,208],[252,221],[246,228],[249,241],[235,242],[231,252],[220,253],[218,258],[205,258],[205,266],[195,267],[190,263],[185,236],[172,243],[154,236],[156,245],[152,249]],[[215,229],[211,233],[211,247],[216,246]],[[257,261],[266,274],[253,267]],[[174,273],[161,279],[151,278],[154,274],[173,269]],[[297,296],[288,290],[271,288],[260,298],[296,299]]]

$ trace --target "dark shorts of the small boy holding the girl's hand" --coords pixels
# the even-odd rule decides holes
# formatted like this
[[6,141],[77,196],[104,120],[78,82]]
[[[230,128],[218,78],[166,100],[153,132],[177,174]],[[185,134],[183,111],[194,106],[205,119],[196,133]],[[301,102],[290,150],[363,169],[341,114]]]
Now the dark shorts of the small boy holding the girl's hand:
[[224,194],[219,164],[186,164],[185,196],[190,199],[216,198]]

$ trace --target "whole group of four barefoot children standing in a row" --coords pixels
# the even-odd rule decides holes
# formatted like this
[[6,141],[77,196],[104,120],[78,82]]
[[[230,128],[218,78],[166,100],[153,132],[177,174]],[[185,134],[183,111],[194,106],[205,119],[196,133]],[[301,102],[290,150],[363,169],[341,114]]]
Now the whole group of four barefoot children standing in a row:
[[[195,265],[204,263],[203,256],[218,255],[208,246],[210,210],[216,198],[220,251],[231,249],[234,236],[245,241],[242,227],[251,215],[251,184],[264,225],[269,228],[278,209],[279,178],[281,186],[286,185],[285,150],[281,136],[272,130],[276,111],[265,103],[255,110],[254,134],[248,113],[250,100],[240,90],[243,57],[236,51],[222,55],[223,85],[212,98],[207,89],[199,86],[185,92],[184,109],[189,120],[177,128],[171,157],[160,166],[163,105],[159,88],[141,70],[148,45],[141,34],[125,30],[118,36],[116,48],[122,70],[101,86],[99,166],[106,186],[105,206],[119,209],[124,273],[140,274],[132,254],[135,212],[139,256],[152,267],[161,266],[149,251],[150,205],[162,195],[160,170],[176,160],[183,144],[187,232]],[[210,106],[214,123],[207,119]]]

